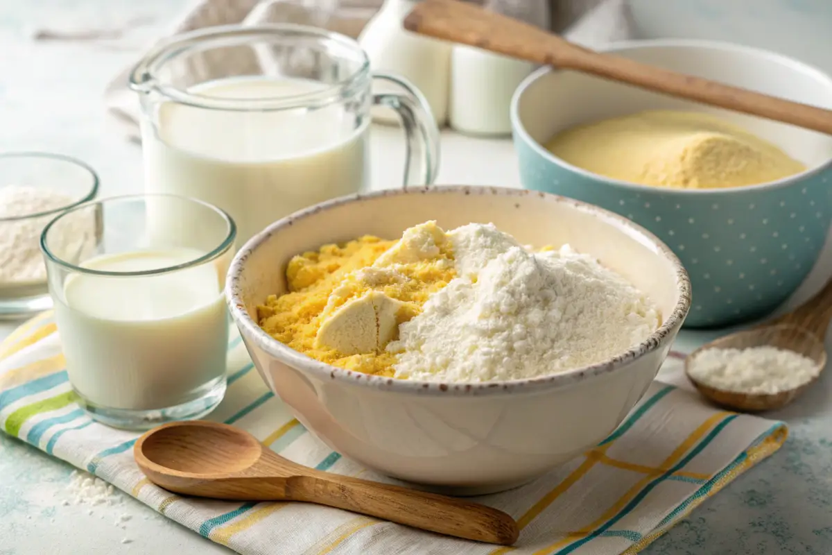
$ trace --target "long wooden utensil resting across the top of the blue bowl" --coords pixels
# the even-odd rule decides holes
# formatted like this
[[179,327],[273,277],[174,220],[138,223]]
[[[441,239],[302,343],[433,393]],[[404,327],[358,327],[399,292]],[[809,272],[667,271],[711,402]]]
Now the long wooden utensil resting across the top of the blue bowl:
[[590,73],[671,97],[686,98],[832,135],[830,110],[594,52],[533,25],[473,4],[456,0],[425,0],[418,3],[404,19],[404,27],[412,32],[521,60]]

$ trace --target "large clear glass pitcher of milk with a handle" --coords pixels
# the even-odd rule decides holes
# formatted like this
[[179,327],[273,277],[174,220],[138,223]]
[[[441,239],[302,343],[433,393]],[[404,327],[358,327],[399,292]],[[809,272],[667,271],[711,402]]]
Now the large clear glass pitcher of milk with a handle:
[[[373,80],[399,93],[373,94]],[[369,181],[370,109],[399,113],[404,186],[430,185],[438,129],[409,82],[370,72],[349,37],[293,24],[209,27],[152,50],[131,72],[141,97],[146,191],[226,211],[238,245],[283,216]],[[196,215],[171,214],[177,228]]]

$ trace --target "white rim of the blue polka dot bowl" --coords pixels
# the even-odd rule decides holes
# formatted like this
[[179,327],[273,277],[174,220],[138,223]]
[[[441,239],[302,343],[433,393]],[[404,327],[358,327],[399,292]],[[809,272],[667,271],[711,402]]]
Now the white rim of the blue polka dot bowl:
[[[765,50],[764,48],[746,47],[740,44],[735,44],[733,42],[673,38],[639,41],[617,41],[610,42],[604,47],[599,48],[598,52],[616,53],[622,52],[624,50],[650,48],[663,49],[675,47],[700,48],[703,50],[712,49],[722,50],[725,52],[741,52],[749,54],[750,56],[765,58],[771,62],[779,62],[780,65],[784,67],[790,67],[790,69],[796,70],[797,72],[802,72],[807,76],[813,77],[816,82],[824,84],[829,89],[830,97],[832,97],[832,76],[821,70],[819,67],[812,66],[805,62],[800,62],[800,60],[797,60],[793,57],[785,56],[784,54],[779,54],[777,52]],[[527,92],[528,88],[531,87],[532,83],[537,82],[544,75],[547,75],[548,73],[554,71],[557,70],[552,69],[552,67],[541,67],[536,71],[532,72],[528,77],[523,79],[518,88],[514,91],[511,106],[509,108],[509,116],[512,122],[512,129],[516,136],[521,138],[522,141],[525,142],[532,149],[532,151],[535,151],[535,153],[542,156],[547,161],[551,161],[553,164],[561,166],[563,169],[567,171],[572,171],[572,173],[576,173],[579,176],[586,177],[588,179],[593,179],[596,181],[603,181],[604,183],[618,186],[622,189],[630,189],[632,191],[647,192],[666,196],[721,196],[739,195],[742,193],[752,193],[755,191],[761,191],[765,189],[777,189],[780,187],[792,186],[805,181],[806,178],[816,176],[832,168],[832,156],[830,156],[828,160],[822,162],[820,165],[811,167],[805,171],[801,171],[800,173],[797,173],[794,176],[788,176],[775,181],[768,181],[766,183],[759,183],[757,185],[749,185],[742,187],[726,187],[724,189],[677,189],[672,187],[656,187],[649,185],[641,185],[640,183],[633,183],[631,181],[614,179],[612,177],[602,176],[597,173],[593,173],[592,171],[584,170],[583,168],[573,166],[572,164],[563,160],[562,158],[553,155],[551,152],[547,151],[539,142],[532,139],[532,137],[529,136],[528,131],[526,131],[526,127],[523,126],[522,119],[520,118],[520,114],[518,112],[520,99],[523,96],[523,94]]]

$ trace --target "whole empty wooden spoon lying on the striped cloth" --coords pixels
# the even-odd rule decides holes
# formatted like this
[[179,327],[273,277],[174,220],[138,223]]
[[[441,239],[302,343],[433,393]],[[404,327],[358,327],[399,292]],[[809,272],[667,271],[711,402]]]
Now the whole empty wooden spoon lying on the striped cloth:
[[517,523],[495,508],[307,468],[227,424],[164,424],[142,435],[133,455],[147,479],[171,492],[318,503],[478,542],[511,545],[518,538]]

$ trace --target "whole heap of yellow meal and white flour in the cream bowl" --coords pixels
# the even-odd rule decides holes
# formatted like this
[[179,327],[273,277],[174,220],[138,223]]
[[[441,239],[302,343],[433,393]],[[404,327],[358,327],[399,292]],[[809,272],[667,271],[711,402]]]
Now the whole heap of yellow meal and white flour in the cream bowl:
[[569,245],[537,250],[492,223],[363,236],[293,257],[258,306],[273,338],[397,379],[524,379],[594,364],[661,324],[647,295]]

